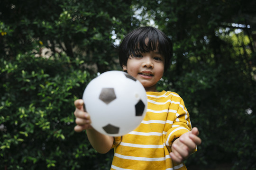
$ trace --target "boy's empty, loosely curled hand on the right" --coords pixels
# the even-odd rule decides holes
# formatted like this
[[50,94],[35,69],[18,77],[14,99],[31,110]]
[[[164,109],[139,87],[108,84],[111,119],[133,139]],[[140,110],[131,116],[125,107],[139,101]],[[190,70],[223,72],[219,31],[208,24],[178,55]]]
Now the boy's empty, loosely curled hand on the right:
[[201,139],[198,137],[199,131],[193,127],[190,132],[184,133],[172,144],[172,152],[170,153],[173,161],[181,163],[194,151],[197,145],[201,144]]

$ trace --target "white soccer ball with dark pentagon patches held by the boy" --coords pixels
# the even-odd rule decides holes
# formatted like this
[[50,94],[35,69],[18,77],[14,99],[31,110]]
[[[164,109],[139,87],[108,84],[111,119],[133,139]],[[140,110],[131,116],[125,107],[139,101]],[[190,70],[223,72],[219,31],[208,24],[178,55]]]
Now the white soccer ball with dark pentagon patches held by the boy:
[[122,71],[107,71],[91,80],[82,99],[91,116],[91,126],[108,136],[131,132],[146,114],[143,85]]

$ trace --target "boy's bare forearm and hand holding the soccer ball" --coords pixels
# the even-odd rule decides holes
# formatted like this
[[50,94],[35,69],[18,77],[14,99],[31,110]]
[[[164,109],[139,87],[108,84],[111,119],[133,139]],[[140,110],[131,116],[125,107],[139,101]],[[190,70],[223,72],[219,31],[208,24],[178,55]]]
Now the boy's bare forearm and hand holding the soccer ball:
[[109,152],[114,142],[114,137],[103,135],[91,127],[90,115],[83,110],[82,100],[76,100],[74,105],[76,107],[74,115],[76,117],[75,122],[77,124],[74,127],[74,130],[76,132],[81,132],[86,129],[87,136],[92,147],[99,153]]

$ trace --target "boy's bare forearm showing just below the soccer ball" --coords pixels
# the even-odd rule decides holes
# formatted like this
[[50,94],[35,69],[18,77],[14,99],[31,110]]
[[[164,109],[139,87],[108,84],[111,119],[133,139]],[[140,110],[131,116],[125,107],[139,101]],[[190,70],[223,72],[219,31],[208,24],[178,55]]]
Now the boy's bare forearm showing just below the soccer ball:
[[92,147],[98,153],[107,153],[110,151],[114,142],[114,137],[103,135],[96,131],[94,128],[87,129],[86,131]]

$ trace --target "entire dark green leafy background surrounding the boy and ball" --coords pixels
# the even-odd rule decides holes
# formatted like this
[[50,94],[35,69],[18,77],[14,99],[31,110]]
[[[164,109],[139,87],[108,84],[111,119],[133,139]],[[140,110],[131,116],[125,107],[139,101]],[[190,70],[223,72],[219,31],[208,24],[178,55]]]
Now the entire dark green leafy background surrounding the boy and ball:
[[75,99],[121,70],[138,26],[174,42],[158,90],[177,92],[202,144],[188,170],[256,170],[255,0],[0,0],[0,170],[109,170],[75,133]]

